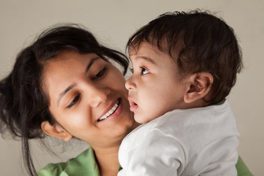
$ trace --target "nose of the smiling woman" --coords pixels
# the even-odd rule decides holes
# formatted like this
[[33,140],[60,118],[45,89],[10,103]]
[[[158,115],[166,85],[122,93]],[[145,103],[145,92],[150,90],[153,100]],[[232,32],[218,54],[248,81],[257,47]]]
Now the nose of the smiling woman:
[[90,106],[98,107],[101,103],[105,103],[110,94],[110,90],[105,87],[90,87]]

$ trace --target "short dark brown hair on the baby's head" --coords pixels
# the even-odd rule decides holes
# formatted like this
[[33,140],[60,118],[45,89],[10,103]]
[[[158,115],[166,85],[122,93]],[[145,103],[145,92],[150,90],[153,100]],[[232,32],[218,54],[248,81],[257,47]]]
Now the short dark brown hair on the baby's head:
[[224,20],[200,10],[165,13],[136,31],[127,50],[137,51],[148,42],[167,53],[178,65],[180,75],[210,72],[214,82],[208,105],[227,97],[243,68],[241,49],[233,29]]

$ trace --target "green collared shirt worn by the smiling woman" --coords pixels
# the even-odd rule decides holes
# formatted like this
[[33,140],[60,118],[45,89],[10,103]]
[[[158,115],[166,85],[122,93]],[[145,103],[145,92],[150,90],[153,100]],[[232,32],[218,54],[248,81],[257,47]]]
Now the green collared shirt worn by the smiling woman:
[[[238,176],[252,176],[243,160],[238,158],[236,163]],[[99,176],[94,150],[89,148],[75,158],[66,162],[50,163],[38,171],[38,176]]]

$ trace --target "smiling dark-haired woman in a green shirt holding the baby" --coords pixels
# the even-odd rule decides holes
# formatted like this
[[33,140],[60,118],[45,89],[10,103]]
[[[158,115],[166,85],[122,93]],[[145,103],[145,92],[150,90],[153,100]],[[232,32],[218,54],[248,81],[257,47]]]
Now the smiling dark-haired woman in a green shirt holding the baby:
[[1,131],[7,127],[22,138],[30,175],[37,173],[28,140],[44,134],[64,141],[75,137],[91,147],[38,175],[117,175],[121,141],[138,124],[129,111],[125,79],[109,61],[126,73],[125,55],[76,25],[44,31],[19,53],[0,82]]

